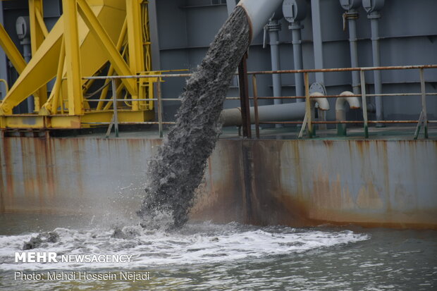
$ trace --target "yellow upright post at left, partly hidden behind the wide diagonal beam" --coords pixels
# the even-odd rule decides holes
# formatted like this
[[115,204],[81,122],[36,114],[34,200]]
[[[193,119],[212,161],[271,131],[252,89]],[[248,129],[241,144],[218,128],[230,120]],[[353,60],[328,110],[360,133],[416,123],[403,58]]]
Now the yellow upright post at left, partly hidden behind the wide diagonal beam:
[[[35,55],[45,36],[49,34],[44,24],[42,16],[42,0],[29,0],[29,23],[30,23],[30,45],[32,47],[32,56]],[[40,18],[40,19],[39,19]],[[47,101],[47,85],[43,85],[35,94],[35,111]]]

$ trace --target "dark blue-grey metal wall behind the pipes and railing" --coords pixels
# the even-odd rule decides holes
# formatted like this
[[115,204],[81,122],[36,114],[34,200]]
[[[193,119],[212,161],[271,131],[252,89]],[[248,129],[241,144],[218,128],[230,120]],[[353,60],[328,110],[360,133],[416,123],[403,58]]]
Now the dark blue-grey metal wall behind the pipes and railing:
[[[202,5],[203,4],[203,5]],[[311,6],[307,1],[307,18],[303,21],[303,58],[304,68],[314,68],[312,47]],[[348,32],[343,31],[342,14],[345,12],[337,0],[320,0],[322,39],[324,42],[324,67],[350,67]],[[192,69],[202,60],[209,43],[226,19],[226,5],[211,5],[210,0],[156,1],[159,20],[159,47],[161,69]],[[380,20],[381,66],[422,65],[437,63],[437,18],[433,11],[437,2],[433,0],[387,0]],[[281,21],[280,53],[281,69],[293,69],[293,47],[288,23]],[[370,20],[364,8],[359,8],[357,20],[359,66],[372,66]],[[268,37],[267,37],[268,41]],[[250,48],[248,70],[270,70],[270,50],[262,48],[262,35],[254,40]],[[373,90],[373,73],[366,74],[367,92]],[[437,70],[426,72],[426,89],[437,91]],[[314,75],[310,75],[314,82]],[[419,73],[417,70],[384,71],[382,73],[383,93],[419,92]],[[340,94],[352,90],[350,73],[327,73],[325,75],[328,94]],[[180,94],[184,80],[168,80],[164,85],[164,96],[176,97]],[[295,94],[293,75],[283,75],[283,94]],[[235,80],[235,85],[238,85]],[[271,77],[259,78],[259,95],[273,94]],[[238,89],[231,87],[229,96],[237,96]],[[335,100],[331,99],[334,109]],[[386,119],[418,118],[420,97],[384,97]],[[437,98],[428,97],[429,116],[437,118]],[[171,119],[177,108],[177,102],[166,102],[166,118]],[[235,101],[228,101],[226,108],[238,106]],[[335,118],[334,110],[328,112],[328,118]],[[374,118],[370,114],[369,118]]]

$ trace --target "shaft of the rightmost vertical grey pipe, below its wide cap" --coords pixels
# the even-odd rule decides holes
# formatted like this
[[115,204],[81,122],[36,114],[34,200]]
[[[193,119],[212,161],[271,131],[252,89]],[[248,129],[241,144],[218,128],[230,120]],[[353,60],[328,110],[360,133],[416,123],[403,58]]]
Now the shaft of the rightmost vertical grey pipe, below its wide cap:
[[[381,18],[381,14],[378,11],[374,11],[367,16],[370,18],[371,24],[371,49],[374,67],[381,66],[381,58],[379,56],[379,18]],[[375,88],[375,105],[376,105],[376,120],[383,120],[383,101],[382,97],[378,96],[378,94],[382,93],[382,83],[381,83],[381,71],[374,70],[374,88]],[[376,127],[383,127],[381,123],[376,123]]]

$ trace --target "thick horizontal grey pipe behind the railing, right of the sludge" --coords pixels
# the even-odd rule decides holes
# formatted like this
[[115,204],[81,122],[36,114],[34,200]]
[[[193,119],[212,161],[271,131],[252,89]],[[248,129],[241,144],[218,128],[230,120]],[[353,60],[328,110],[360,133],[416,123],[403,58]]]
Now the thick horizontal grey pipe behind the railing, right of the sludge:
[[[288,103],[265,105],[258,107],[259,122],[264,121],[286,121],[286,120],[302,120],[305,116],[304,103]],[[223,126],[241,126],[241,109],[225,109],[221,111]],[[252,124],[255,120],[254,107],[250,107],[250,120]]]

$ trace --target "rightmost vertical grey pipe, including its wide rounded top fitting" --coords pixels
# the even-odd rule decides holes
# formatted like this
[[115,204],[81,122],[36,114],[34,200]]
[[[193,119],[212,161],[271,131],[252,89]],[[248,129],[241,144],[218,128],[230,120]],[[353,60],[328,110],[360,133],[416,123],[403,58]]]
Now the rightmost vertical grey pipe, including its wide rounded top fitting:
[[[381,66],[381,57],[379,50],[379,18],[381,18],[381,9],[384,6],[384,0],[363,0],[364,10],[367,11],[367,18],[370,19],[371,25],[371,50],[374,61],[374,67]],[[375,106],[376,106],[376,120],[383,120],[383,101],[382,97],[382,82],[381,70],[374,70],[374,88],[375,88]],[[382,123],[376,123],[377,128],[382,128]]]

